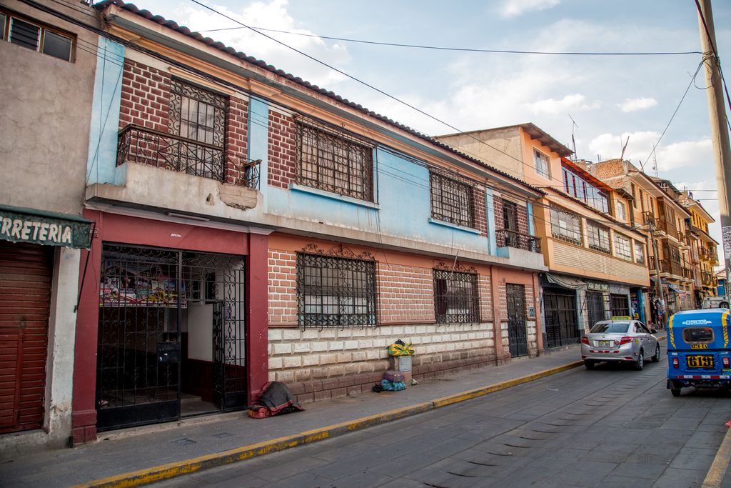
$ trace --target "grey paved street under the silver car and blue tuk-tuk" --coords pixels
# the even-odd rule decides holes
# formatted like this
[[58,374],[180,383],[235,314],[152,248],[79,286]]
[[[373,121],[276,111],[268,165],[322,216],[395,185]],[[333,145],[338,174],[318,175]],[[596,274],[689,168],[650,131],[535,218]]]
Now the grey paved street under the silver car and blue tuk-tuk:
[[672,397],[662,352],[642,372],[573,369],[157,486],[700,487],[729,398],[692,389]]

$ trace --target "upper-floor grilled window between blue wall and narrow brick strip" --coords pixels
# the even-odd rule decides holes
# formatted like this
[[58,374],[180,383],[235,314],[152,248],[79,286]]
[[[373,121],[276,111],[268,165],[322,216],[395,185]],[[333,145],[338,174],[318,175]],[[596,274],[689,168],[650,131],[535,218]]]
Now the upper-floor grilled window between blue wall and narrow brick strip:
[[429,173],[431,217],[452,224],[474,228],[472,188],[464,181]]

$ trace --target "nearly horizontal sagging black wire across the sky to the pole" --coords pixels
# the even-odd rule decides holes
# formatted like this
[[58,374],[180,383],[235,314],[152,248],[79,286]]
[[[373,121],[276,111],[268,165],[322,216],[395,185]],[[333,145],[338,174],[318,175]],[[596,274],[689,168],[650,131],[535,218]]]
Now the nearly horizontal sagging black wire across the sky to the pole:
[[[232,19],[233,20],[233,19]],[[234,20],[236,22],[236,20]],[[496,54],[543,54],[550,56],[678,56],[684,54],[702,54],[700,51],[667,51],[667,52],[645,52],[645,53],[629,53],[629,52],[579,52],[579,51],[537,51],[537,50],[510,50],[510,49],[479,49],[479,48],[448,48],[445,46],[405,44],[401,42],[381,42],[362,39],[349,39],[347,37],[322,36],[319,34],[307,34],[305,32],[282,31],[279,29],[266,29],[265,27],[238,26],[226,27],[224,29],[205,29],[198,32],[220,32],[233,31],[237,29],[251,29],[254,31],[279,32],[280,34],[291,34],[294,36],[317,37],[319,39],[327,39],[334,41],[355,42],[359,44],[371,44],[391,46],[395,48],[414,48],[414,49],[430,49],[430,50],[450,50],[461,51],[466,53],[496,53]]]

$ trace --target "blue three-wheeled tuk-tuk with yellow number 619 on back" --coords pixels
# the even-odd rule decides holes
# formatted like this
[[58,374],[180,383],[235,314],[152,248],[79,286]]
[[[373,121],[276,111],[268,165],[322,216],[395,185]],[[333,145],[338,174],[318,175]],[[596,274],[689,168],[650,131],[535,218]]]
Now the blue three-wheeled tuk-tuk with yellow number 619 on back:
[[667,324],[667,388],[731,388],[729,309],[678,312]]

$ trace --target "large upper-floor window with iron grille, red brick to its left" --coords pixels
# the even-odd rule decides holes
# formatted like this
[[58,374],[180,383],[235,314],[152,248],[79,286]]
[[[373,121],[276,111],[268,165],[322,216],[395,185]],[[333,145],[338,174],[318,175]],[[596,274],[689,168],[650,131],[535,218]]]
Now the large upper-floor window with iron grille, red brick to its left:
[[373,148],[344,132],[298,121],[297,182],[358,200],[374,201]]

